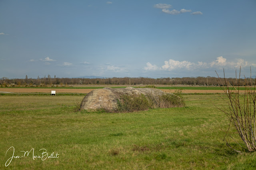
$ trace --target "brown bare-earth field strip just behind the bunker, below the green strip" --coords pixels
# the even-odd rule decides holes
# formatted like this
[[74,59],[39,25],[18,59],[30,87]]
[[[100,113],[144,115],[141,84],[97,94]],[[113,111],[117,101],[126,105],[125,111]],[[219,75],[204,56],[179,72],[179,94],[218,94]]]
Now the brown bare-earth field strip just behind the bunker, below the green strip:
[[[1,92],[12,93],[51,93],[51,90],[55,90],[56,93],[89,93],[94,89],[64,89],[64,88],[0,88]],[[164,92],[173,93],[175,90],[161,89]],[[243,92],[243,90],[240,90]],[[182,93],[224,93],[223,90],[182,90]]]

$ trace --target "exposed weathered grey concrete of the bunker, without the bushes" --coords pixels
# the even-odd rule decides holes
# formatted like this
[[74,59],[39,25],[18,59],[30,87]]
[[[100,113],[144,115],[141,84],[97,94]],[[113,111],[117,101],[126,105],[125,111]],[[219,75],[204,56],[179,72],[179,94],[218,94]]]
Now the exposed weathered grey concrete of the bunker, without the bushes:
[[154,98],[165,94],[162,90],[155,88],[102,88],[96,89],[88,93],[81,103],[81,109],[100,109],[109,110],[117,108],[117,99],[122,95],[144,94]]

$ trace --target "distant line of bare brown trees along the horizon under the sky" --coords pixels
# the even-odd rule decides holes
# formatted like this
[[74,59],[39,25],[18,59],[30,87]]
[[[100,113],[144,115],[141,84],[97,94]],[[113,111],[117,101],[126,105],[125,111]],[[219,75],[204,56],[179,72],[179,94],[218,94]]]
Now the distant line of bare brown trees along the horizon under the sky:
[[[224,78],[220,78],[224,82]],[[238,83],[236,78],[226,78],[230,86],[235,86]],[[246,78],[250,82],[250,78]],[[126,85],[126,86],[141,86],[141,85],[190,85],[190,86],[222,86],[216,77],[182,77],[182,78],[52,78],[50,75],[43,78],[0,78],[1,87],[64,87],[72,85]],[[252,86],[255,84],[255,79],[252,80]],[[244,79],[240,80],[240,86],[244,86]]]

